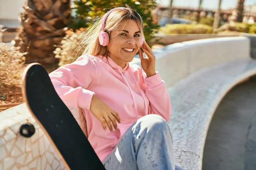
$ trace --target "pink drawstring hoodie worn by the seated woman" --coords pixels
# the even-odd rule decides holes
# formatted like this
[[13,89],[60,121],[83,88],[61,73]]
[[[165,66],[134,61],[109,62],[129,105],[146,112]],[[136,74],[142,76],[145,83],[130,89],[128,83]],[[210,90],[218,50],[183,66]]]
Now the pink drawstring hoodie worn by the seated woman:
[[[165,83],[159,73],[146,77],[138,65],[127,63],[122,69],[110,57],[83,55],[49,77],[68,108],[82,108],[88,140],[101,161],[137,119],[147,114],[158,114],[167,122],[170,119],[171,104]],[[119,114],[118,130],[104,130],[90,112],[93,94]]]

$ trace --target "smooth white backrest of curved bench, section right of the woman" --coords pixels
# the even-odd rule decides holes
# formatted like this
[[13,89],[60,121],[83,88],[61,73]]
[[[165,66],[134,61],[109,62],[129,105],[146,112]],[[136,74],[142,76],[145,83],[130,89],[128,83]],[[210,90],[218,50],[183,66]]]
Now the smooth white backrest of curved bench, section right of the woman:
[[250,58],[250,40],[246,37],[225,37],[194,40],[167,45],[154,51],[156,70],[168,88],[200,69]]

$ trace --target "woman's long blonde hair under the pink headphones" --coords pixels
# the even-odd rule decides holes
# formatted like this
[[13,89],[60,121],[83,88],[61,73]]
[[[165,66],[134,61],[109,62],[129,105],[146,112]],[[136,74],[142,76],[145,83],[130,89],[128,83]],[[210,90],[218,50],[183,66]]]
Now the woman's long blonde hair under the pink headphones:
[[[98,38],[100,33],[100,25],[102,23],[102,17],[93,20],[91,26],[86,31],[84,38],[81,40],[81,45],[79,46],[81,46],[81,48],[84,49],[84,52],[82,54],[90,54],[93,56],[103,57],[108,55],[108,46],[100,45]],[[125,20],[136,21],[140,29],[141,36],[144,37],[142,18],[137,13],[137,11],[131,9],[128,6],[126,8],[112,11],[105,21],[105,28],[103,29],[103,31],[108,32],[108,34],[110,35],[111,31],[114,31]]]

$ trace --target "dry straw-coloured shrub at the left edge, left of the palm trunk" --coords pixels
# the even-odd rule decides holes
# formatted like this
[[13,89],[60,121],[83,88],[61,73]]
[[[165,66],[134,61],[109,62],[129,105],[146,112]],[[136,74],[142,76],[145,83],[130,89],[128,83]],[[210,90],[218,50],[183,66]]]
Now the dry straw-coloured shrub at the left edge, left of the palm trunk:
[[0,86],[21,85],[19,71],[25,62],[24,54],[18,47],[0,43]]

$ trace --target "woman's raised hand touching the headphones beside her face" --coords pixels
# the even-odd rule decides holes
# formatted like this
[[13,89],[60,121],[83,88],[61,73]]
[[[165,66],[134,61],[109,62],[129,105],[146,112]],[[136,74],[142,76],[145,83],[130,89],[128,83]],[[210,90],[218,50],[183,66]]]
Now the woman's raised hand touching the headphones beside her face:
[[142,51],[140,50],[140,58],[141,58],[141,66],[147,74],[147,77],[154,76],[156,74],[156,57],[153,54],[153,51],[148,46],[148,44],[144,41],[142,49],[146,55],[144,58]]

